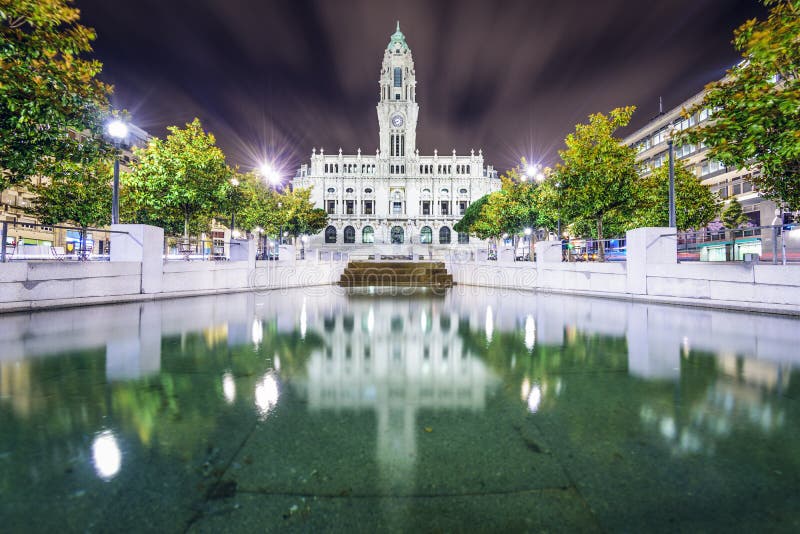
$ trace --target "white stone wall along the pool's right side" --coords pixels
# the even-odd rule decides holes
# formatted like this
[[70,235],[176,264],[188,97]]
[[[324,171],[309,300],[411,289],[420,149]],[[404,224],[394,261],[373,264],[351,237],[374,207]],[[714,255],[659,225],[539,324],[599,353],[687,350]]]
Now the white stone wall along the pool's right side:
[[560,244],[545,241],[536,263],[452,256],[447,266],[461,285],[800,315],[800,265],[678,263],[671,228],[628,232],[627,262],[565,263]]

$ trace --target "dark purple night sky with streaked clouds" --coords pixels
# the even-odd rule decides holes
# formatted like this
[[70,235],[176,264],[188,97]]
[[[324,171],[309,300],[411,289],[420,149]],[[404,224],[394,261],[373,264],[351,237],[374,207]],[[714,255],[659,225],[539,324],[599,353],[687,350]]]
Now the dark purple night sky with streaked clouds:
[[[77,0],[113,103],[154,135],[197,116],[230,163],[286,175],[312,147],[378,145],[375,105],[396,20],[414,55],[417,143],[483,148],[505,170],[558,159],[589,113],[631,127],[721,77],[757,0]],[[624,132],[622,132],[624,133]]]

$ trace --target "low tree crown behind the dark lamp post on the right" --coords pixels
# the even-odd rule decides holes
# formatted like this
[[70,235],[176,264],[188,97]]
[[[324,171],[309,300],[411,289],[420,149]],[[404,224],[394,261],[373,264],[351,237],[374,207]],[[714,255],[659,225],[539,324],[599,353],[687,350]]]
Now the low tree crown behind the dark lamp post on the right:
[[[641,178],[640,197],[630,228],[669,225],[669,166]],[[675,166],[675,222],[678,230],[706,226],[719,215],[719,197],[687,167]]]

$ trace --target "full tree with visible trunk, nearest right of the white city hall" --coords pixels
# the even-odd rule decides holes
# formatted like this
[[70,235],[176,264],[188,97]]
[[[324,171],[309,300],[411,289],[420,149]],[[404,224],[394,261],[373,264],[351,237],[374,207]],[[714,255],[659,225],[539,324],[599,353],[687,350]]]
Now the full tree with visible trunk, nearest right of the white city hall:
[[[600,241],[599,259],[605,259],[603,226],[609,218],[629,216],[635,206],[638,175],[636,151],[614,137],[628,125],[636,108],[616,108],[606,116],[589,116],[589,124],[578,124],[567,136],[566,150],[559,151],[563,163],[555,169],[560,184],[560,208],[574,221],[592,222]],[[551,207],[552,209],[552,207]]]

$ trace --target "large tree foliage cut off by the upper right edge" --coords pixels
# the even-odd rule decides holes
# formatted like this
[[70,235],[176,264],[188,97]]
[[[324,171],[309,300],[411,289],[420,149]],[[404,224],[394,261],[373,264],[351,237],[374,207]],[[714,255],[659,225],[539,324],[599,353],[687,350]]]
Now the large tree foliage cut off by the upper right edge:
[[764,21],[749,20],[734,33],[744,61],[709,84],[687,116],[712,110],[713,120],[685,133],[709,156],[739,169],[760,164],[753,185],[769,199],[800,209],[800,1],[763,0]]

